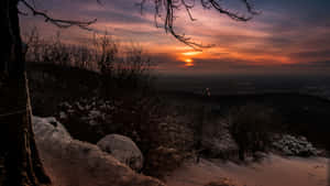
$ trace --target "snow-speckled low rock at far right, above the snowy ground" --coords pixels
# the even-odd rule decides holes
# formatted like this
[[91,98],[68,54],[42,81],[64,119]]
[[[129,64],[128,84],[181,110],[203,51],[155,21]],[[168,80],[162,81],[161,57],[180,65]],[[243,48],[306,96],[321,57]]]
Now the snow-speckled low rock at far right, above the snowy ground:
[[312,156],[318,150],[305,136],[282,135],[273,142],[273,146],[285,155]]

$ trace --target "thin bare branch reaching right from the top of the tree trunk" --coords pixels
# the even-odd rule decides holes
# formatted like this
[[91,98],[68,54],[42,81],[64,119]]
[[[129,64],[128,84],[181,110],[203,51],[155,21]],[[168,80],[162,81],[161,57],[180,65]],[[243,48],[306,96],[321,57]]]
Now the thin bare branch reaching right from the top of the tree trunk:
[[[70,26],[79,26],[84,30],[88,30],[90,31],[91,29],[89,28],[89,25],[91,25],[92,23],[97,22],[97,19],[92,20],[92,21],[73,21],[73,20],[62,20],[62,19],[54,19],[52,17],[50,17],[47,13],[38,11],[35,9],[35,6],[31,6],[26,0],[20,0],[32,13],[33,15],[38,15],[38,17],[43,17],[45,19],[45,22],[51,22],[52,24],[58,26],[58,28],[70,28]],[[99,3],[100,1],[97,0]]]

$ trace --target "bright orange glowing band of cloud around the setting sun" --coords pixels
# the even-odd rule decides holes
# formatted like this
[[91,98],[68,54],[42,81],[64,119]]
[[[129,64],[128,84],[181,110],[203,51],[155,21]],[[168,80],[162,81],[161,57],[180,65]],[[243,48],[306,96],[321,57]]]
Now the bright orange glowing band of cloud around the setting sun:
[[[157,48],[158,50],[158,48]],[[196,67],[197,62],[200,66],[213,67],[221,69],[223,66],[228,66],[230,64],[234,65],[246,65],[246,66],[280,66],[288,64],[298,64],[299,62],[296,58],[289,57],[286,54],[277,54],[277,53],[268,53],[267,51],[263,53],[251,53],[244,50],[231,48],[231,47],[212,47],[200,51],[189,50],[187,46],[184,47],[165,47],[162,48],[167,51],[168,54],[172,54],[173,59],[176,62],[180,62],[176,67],[178,68],[189,68]],[[156,53],[156,52],[155,52]],[[289,53],[289,52],[287,52]]]

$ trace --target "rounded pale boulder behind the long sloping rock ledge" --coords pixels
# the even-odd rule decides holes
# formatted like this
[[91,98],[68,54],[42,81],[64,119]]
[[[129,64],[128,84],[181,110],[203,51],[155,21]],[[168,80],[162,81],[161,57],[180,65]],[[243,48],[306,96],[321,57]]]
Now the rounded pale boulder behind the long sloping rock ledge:
[[128,136],[109,134],[102,138],[97,145],[135,171],[140,171],[143,166],[143,155],[140,149]]

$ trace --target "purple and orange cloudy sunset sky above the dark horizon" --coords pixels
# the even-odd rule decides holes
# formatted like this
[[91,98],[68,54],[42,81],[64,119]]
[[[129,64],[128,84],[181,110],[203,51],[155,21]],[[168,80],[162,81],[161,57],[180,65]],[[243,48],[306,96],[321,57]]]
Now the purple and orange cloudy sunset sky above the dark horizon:
[[[238,22],[196,0],[190,21],[184,9],[176,10],[177,33],[213,47],[197,52],[180,43],[154,22],[153,0],[143,12],[141,0],[34,0],[38,10],[53,18],[89,21],[99,33],[108,32],[123,43],[139,43],[165,74],[329,74],[329,0],[253,0],[260,11],[249,22]],[[187,0],[189,1],[189,0]],[[191,0],[190,0],[191,1]],[[189,2],[190,2],[189,1]],[[32,2],[32,1],[31,1]],[[246,14],[240,0],[222,0],[224,8]],[[23,6],[20,9],[29,12]],[[44,36],[59,29],[43,19],[21,15],[22,33],[36,26]],[[78,28],[61,30],[68,43],[84,44],[91,33]]]

